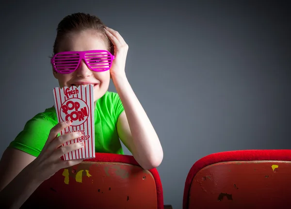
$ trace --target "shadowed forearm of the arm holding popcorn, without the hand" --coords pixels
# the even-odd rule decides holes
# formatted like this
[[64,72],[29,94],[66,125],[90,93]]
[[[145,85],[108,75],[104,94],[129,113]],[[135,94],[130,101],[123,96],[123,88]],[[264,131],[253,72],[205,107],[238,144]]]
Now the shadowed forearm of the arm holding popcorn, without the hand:
[[29,165],[0,191],[0,208],[19,209],[41,184],[32,175]]

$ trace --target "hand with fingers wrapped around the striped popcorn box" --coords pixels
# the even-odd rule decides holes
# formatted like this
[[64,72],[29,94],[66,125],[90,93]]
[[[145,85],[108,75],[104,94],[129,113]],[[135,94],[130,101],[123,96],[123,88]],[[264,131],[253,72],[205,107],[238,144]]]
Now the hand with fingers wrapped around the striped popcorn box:
[[79,135],[81,134],[79,131],[57,136],[59,132],[68,128],[70,125],[70,121],[64,121],[54,126],[49,132],[48,140],[41,153],[29,165],[30,170],[33,172],[32,176],[37,178],[37,181],[43,182],[60,169],[79,164],[83,161],[83,159],[68,161],[61,159],[64,154],[73,150],[78,150],[84,146],[83,142],[62,146],[65,142],[81,136]]

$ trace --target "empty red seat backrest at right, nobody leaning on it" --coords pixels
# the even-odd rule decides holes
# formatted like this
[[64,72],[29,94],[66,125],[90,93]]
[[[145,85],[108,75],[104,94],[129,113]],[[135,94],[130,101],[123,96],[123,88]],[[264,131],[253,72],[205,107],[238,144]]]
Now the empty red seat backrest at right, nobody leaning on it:
[[291,150],[239,150],[194,163],[183,209],[291,207]]

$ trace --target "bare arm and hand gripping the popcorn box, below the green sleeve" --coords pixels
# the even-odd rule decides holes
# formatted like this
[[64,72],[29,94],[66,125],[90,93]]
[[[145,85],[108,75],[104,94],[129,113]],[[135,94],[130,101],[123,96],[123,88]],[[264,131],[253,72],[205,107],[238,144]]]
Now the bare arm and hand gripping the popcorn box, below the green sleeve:
[[43,181],[61,168],[82,161],[60,159],[65,153],[84,146],[83,143],[61,146],[80,137],[77,132],[57,136],[60,131],[70,126],[70,121],[67,122],[58,123],[50,130],[46,144],[37,158],[17,149],[5,150],[0,161],[0,208],[20,208]]

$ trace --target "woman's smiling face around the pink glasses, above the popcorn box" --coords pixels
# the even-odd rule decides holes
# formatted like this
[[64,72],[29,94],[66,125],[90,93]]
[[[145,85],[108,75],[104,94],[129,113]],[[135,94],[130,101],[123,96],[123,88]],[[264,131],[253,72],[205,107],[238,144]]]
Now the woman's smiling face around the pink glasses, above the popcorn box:
[[[108,47],[96,32],[82,31],[68,34],[62,41],[59,52],[86,50],[108,50]],[[61,88],[93,84],[94,101],[97,101],[108,91],[110,83],[109,70],[103,72],[92,71],[83,60],[74,72],[60,74],[53,69],[53,75],[59,81]]]

